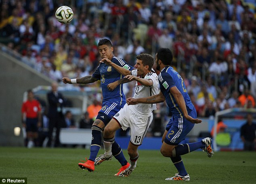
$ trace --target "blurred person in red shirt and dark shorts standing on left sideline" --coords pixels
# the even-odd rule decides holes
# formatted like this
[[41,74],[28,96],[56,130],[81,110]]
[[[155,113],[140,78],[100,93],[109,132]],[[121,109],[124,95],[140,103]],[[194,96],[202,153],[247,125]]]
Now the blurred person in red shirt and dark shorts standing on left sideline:
[[38,146],[38,128],[41,126],[41,104],[34,98],[32,90],[27,91],[27,101],[21,108],[21,121],[26,128],[25,146]]

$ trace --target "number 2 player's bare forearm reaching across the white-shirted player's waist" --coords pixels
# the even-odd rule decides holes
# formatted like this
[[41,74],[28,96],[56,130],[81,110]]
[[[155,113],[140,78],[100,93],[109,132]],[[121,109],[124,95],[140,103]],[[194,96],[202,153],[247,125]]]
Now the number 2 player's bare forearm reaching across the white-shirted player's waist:
[[159,94],[155,94],[153,96],[145,97],[145,98],[127,98],[126,103],[128,105],[135,105],[135,104],[156,104],[160,102],[164,102],[165,98],[162,92]]

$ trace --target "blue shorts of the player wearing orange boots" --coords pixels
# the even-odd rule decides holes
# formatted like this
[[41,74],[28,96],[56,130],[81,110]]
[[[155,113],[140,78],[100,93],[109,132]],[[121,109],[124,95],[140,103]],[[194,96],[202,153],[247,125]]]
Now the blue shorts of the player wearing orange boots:
[[116,113],[118,113],[121,108],[122,106],[115,102],[106,102],[105,104],[102,105],[102,108],[99,111],[96,119],[100,119],[101,121],[103,121],[106,126],[107,123],[109,123],[112,117]]

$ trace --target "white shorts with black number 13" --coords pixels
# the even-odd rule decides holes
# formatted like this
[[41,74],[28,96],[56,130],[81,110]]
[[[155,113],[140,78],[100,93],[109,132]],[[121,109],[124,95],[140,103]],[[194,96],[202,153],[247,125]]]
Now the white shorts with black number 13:
[[130,141],[134,145],[141,145],[142,141],[149,129],[149,126],[153,119],[153,113],[149,117],[141,117],[132,110],[130,110],[127,104],[124,105],[121,110],[113,117],[123,130],[130,127]]

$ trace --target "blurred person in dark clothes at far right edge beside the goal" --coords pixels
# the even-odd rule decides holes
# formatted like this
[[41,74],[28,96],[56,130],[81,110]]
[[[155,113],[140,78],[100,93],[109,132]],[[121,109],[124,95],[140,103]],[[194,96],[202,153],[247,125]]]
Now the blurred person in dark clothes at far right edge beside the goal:
[[242,125],[240,129],[240,136],[243,141],[243,150],[245,151],[255,151],[256,145],[256,124],[253,122],[252,114],[247,114],[247,121],[244,125]]

